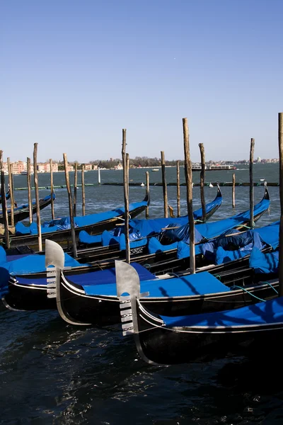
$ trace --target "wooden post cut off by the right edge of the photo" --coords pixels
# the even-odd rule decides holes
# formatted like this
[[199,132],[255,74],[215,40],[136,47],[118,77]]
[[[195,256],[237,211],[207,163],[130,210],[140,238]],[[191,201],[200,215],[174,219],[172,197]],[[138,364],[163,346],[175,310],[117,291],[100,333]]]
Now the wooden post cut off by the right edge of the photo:
[[279,196],[280,196],[280,227],[279,227],[279,297],[283,297],[283,112],[278,114],[279,143]]

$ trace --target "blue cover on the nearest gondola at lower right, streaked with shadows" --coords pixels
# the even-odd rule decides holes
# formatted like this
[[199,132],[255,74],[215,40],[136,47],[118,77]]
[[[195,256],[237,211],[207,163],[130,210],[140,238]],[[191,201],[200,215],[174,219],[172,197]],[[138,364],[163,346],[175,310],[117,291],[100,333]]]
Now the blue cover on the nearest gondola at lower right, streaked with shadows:
[[[168,327],[242,327],[255,324],[283,322],[283,297],[258,302],[248,307],[192,314],[190,316],[161,316]],[[200,329],[201,331],[201,329]]]

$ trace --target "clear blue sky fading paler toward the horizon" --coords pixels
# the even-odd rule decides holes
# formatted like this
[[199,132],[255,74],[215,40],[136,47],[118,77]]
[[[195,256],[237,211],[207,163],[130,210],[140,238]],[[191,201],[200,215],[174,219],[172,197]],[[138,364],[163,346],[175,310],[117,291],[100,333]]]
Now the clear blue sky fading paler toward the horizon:
[[0,6],[4,157],[278,157],[282,0],[11,0]]

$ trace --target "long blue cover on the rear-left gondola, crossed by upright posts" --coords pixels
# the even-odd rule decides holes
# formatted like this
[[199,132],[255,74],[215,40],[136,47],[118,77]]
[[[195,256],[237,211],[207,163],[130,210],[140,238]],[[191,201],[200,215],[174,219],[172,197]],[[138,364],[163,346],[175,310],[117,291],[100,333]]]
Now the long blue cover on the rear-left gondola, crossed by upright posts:
[[[129,212],[136,208],[145,207],[147,205],[146,201],[141,201],[139,203],[129,204]],[[110,210],[105,212],[99,212],[97,214],[89,214],[81,217],[74,217],[75,227],[83,227],[88,225],[95,225],[98,222],[104,222],[105,220],[110,220],[111,218],[119,217],[124,214],[124,208],[117,208],[117,210]],[[16,224],[16,234],[37,234],[37,227],[35,223],[32,223],[30,226]],[[24,228],[23,228],[24,227]],[[45,222],[42,225],[42,233],[56,232],[57,230],[70,229],[69,217],[62,217],[61,219],[51,220],[50,222]]]

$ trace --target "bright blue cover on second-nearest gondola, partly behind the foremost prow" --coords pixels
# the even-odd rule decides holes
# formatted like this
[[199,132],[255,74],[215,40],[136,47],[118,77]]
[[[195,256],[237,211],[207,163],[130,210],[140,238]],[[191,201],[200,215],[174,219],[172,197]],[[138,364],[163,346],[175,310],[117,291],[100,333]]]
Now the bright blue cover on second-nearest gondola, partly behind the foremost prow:
[[[73,280],[73,277],[71,276],[71,280]],[[81,285],[87,295],[117,296],[115,280],[112,283],[102,285],[88,286],[82,283]],[[155,278],[154,280],[141,281],[141,293],[149,292],[149,297],[182,297],[229,291],[229,288],[207,271],[180,278]]]

